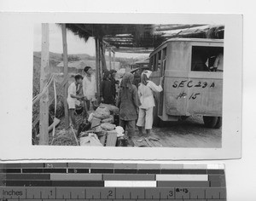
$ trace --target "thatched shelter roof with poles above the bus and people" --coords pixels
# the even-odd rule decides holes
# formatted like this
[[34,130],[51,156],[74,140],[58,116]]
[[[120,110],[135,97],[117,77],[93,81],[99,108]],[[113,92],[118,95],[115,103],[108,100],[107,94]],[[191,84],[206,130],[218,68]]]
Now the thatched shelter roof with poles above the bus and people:
[[84,38],[98,37],[114,51],[149,52],[172,37],[224,38],[222,25],[66,24]]

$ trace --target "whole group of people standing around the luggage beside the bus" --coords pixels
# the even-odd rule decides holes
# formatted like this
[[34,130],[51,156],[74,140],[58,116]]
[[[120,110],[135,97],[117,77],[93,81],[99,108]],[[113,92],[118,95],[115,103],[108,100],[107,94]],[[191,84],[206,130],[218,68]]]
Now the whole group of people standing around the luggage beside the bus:
[[[135,135],[136,125],[139,135],[143,135],[143,127],[149,135],[153,125],[154,92],[163,90],[161,86],[163,78],[160,78],[160,84],[156,85],[149,80],[152,72],[143,71],[141,83],[137,89],[133,84],[134,75],[131,72],[125,72],[119,84],[119,91],[116,93],[118,82],[114,78],[115,73],[115,71],[104,72],[101,83],[101,101],[119,107],[119,125],[127,131],[129,139]],[[84,74],[84,78],[81,75],[76,75],[75,81],[68,88],[67,104],[74,128],[76,128],[74,118],[76,106],[85,102],[89,110],[90,104],[96,104],[97,99],[96,77],[90,66],[84,68]],[[79,95],[79,86],[81,85],[83,93]]]

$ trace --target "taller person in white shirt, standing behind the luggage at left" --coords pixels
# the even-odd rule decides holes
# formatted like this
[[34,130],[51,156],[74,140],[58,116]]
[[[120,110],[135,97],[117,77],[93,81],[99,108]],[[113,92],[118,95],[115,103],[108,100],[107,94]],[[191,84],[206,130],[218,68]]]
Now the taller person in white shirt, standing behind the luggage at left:
[[90,66],[84,67],[83,92],[87,110],[90,110],[90,103],[96,105],[96,77]]

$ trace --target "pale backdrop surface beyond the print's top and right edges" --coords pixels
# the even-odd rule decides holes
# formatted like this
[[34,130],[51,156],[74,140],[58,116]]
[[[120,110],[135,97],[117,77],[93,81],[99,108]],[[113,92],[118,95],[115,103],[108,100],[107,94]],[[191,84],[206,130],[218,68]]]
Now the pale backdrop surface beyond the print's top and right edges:
[[[224,163],[226,165],[228,200],[256,200],[256,135],[255,135],[255,5],[253,1],[0,1],[1,11],[86,11],[86,12],[162,12],[162,13],[239,13],[244,16],[244,47],[243,47],[243,116],[242,116],[242,158],[234,160],[222,160],[203,163]],[[1,19],[0,19],[1,22]],[[11,26],[11,25],[9,25]],[[236,33],[234,33],[236,34]],[[4,50],[1,44],[0,51]],[[1,70],[2,70],[2,66]],[[20,70],[17,71],[19,73]],[[1,76],[3,78],[3,74]],[[11,77],[9,77],[11,78]],[[6,80],[6,79],[5,79]],[[7,79],[14,82],[11,79]],[[19,82],[19,81],[17,81]],[[19,83],[17,83],[19,84]],[[8,90],[8,85],[0,87],[0,97],[8,96],[9,99],[17,99],[20,94],[13,95]],[[28,97],[30,98],[30,97]],[[18,99],[17,99],[18,101]],[[1,103],[3,103],[1,101]],[[3,111],[4,105],[1,104]],[[1,121],[3,120],[1,113]],[[2,126],[5,126],[1,124]],[[12,128],[9,128],[10,130]],[[22,129],[22,128],[21,128]],[[4,139],[1,139],[4,141]],[[0,153],[0,154],[3,154]],[[199,161],[197,161],[198,163]]]

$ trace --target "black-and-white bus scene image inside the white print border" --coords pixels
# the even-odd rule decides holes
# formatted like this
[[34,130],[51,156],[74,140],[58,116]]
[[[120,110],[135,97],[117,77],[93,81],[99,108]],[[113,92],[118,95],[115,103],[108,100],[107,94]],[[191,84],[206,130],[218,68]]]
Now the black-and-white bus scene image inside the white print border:
[[224,31],[34,24],[32,145],[221,148]]

